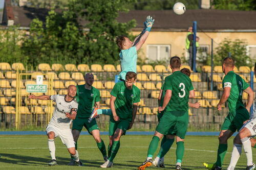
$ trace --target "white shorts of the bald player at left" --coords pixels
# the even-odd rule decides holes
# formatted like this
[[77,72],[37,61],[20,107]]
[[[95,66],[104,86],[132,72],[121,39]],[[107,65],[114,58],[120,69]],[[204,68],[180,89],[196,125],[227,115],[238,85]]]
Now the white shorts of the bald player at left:
[[55,137],[59,136],[62,143],[66,145],[67,148],[75,147],[74,138],[71,129],[59,129],[56,126],[48,125],[46,128],[46,133],[54,132]]

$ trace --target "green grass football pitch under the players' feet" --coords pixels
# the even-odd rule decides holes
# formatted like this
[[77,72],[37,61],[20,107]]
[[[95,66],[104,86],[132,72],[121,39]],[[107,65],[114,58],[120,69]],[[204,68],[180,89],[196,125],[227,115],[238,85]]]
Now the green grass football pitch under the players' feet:
[[[103,135],[106,146],[108,145],[108,136]],[[126,135],[121,138],[120,150],[114,160],[112,169],[136,169],[146,158],[148,144],[152,136]],[[99,169],[103,163],[102,156],[97,149],[97,145],[89,135],[81,135],[78,140],[79,157],[86,167],[70,167],[67,164],[70,161],[70,155],[59,138],[55,139],[56,159],[59,165],[48,167],[50,160],[46,135],[1,135],[0,169]],[[175,168],[175,148],[165,156],[165,165],[169,169]],[[187,136],[185,139],[185,154],[183,159],[183,169],[204,169],[203,162],[215,162],[218,148],[217,136]],[[230,161],[232,150],[232,139],[229,139],[228,153],[226,154],[223,169]],[[255,149],[253,157],[256,157]],[[158,150],[157,150],[158,152]],[[157,154],[157,153],[156,153]],[[245,169],[246,158],[242,153],[236,169]],[[147,169],[161,169],[149,167]]]

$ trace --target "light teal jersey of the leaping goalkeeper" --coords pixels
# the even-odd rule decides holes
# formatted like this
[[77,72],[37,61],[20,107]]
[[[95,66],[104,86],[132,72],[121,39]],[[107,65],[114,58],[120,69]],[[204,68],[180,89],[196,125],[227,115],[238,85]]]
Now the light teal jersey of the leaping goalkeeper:
[[121,50],[120,54],[121,72],[118,79],[125,80],[126,73],[133,71],[137,73],[137,50],[136,46],[133,46],[127,50]]

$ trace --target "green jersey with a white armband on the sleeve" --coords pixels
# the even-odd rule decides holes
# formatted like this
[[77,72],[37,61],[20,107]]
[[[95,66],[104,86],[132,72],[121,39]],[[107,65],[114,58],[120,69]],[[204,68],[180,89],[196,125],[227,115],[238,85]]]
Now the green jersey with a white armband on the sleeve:
[[229,112],[237,110],[239,107],[244,107],[242,96],[243,90],[249,87],[249,85],[234,71],[229,71],[222,81],[223,89],[230,87],[230,95],[227,99]]

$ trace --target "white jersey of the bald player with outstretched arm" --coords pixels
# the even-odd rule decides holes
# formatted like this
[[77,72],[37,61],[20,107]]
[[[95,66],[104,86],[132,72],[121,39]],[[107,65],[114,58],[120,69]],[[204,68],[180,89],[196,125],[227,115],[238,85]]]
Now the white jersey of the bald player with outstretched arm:
[[70,129],[72,119],[66,117],[66,112],[70,113],[72,108],[77,110],[78,103],[75,99],[71,102],[67,102],[65,100],[65,95],[59,94],[51,95],[50,99],[53,100],[56,105],[49,125],[53,125],[59,129]]

